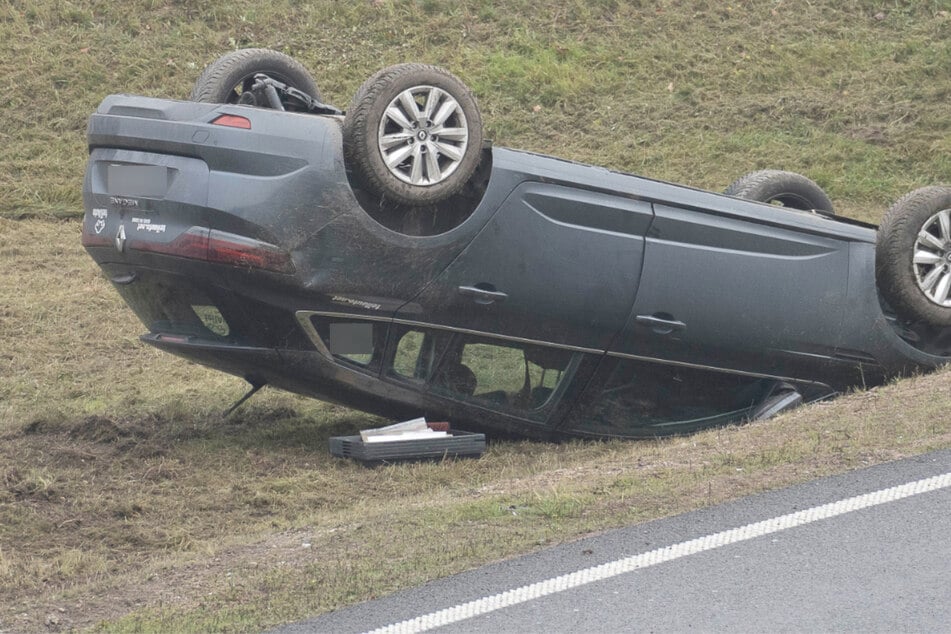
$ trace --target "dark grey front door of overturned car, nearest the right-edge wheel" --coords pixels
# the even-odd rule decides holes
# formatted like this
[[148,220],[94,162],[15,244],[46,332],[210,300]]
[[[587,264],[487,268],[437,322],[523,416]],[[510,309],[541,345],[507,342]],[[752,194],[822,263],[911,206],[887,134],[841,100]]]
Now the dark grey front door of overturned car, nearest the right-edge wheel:
[[841,351],[845,240],[670,205],[656,214],[637,301],[612,353],[788,376]]

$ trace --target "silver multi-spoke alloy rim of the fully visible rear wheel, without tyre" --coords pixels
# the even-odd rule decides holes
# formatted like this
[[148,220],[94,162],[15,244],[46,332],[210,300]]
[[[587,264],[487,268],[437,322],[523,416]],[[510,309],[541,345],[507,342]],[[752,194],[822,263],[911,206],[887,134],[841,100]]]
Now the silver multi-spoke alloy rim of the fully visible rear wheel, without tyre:
[[408,88],[383,111],[377,146],[387,170],[399,180],[436,185],[456,171],[466,154],[466,115],[441,88]]

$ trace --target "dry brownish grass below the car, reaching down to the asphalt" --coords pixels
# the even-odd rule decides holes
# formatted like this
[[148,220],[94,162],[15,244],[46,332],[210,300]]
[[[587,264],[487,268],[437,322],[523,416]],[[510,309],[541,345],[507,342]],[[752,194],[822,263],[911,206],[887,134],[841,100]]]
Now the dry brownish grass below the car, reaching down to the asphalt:
[[[140,345],[75,222],[0,219],[0,630],[259,630],[630,522],[951,446],[948,373],[767,423],[367,469],[377,421]],[[432,548],[432,544],[440,548]]]

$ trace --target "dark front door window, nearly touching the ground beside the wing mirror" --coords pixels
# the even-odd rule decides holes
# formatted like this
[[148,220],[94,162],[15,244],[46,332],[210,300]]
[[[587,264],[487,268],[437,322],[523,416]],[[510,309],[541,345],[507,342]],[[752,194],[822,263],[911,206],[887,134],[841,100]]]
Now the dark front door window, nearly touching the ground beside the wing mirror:
[[[593,383],[597,383],[595,380]],[[773,381],[619,359],[571,427],[607,436],[687,432],[743,419]]]

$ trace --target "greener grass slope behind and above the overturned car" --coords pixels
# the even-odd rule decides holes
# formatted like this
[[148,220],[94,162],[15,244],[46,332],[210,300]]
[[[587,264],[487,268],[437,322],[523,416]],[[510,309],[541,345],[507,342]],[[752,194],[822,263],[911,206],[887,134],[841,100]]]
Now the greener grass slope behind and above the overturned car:
[[81,207],[85,121],[109,93],[184,98],[237,47],[299,58],[346,106],[386,64],[442,64],[488,132],[523,147],[722,189],[802,171],[877,220],[951,180],[949,2],[259,3],[48,0],[0,9],[7,217]]

